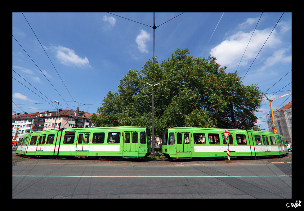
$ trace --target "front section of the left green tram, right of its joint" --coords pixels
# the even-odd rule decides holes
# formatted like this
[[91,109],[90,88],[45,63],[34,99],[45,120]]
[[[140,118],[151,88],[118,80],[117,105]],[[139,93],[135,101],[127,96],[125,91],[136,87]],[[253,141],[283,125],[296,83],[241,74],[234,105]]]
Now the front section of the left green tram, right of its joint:
[[[129,132],[131,130],[137,131]],[[148,130],[148,128],[96,128],[94,130],[67,130],[64,131],[60,137],[61,140],[57,155],[87,157],[144,157],[151,150],[150,135],[147,137],[149,132]],[[126,137],[128,133],[131,134],[131,137],[128,136],[130,139]]]

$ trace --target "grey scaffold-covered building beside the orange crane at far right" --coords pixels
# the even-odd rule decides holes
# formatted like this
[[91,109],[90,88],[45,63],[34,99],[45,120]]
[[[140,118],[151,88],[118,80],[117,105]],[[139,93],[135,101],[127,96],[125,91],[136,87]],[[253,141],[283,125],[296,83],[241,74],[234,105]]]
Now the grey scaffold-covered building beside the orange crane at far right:
[[[273,112],[277,133],[284,136],[288,143],[292,143],[292,101]],[[269,132],[273,132],[271,114],[267,115]]]

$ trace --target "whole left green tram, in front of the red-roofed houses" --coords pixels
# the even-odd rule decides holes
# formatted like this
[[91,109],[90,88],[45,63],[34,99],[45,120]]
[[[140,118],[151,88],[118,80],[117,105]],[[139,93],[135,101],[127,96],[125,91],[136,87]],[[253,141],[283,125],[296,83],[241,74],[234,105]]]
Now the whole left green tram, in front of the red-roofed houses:
[[104,127],[37,131],[20,137],[16,154],[48,157],[143,158],[151,153],[149,128]]

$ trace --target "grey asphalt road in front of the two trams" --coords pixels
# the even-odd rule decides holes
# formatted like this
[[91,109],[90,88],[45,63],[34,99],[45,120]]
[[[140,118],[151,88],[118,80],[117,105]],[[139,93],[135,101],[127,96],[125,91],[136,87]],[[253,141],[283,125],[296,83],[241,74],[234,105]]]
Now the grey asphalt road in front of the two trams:
[[294,203],[292,154],[231,160],[21,158],[12,199],[277,199]]

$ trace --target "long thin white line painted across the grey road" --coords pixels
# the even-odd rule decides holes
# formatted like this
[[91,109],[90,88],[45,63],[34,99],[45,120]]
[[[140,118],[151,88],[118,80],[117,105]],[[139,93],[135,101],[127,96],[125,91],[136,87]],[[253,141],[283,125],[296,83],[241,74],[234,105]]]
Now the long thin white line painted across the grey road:
[[292,175],[255,175],[255,176],[73,176],[73,175],[13,175],[12,177],[292,177]]

